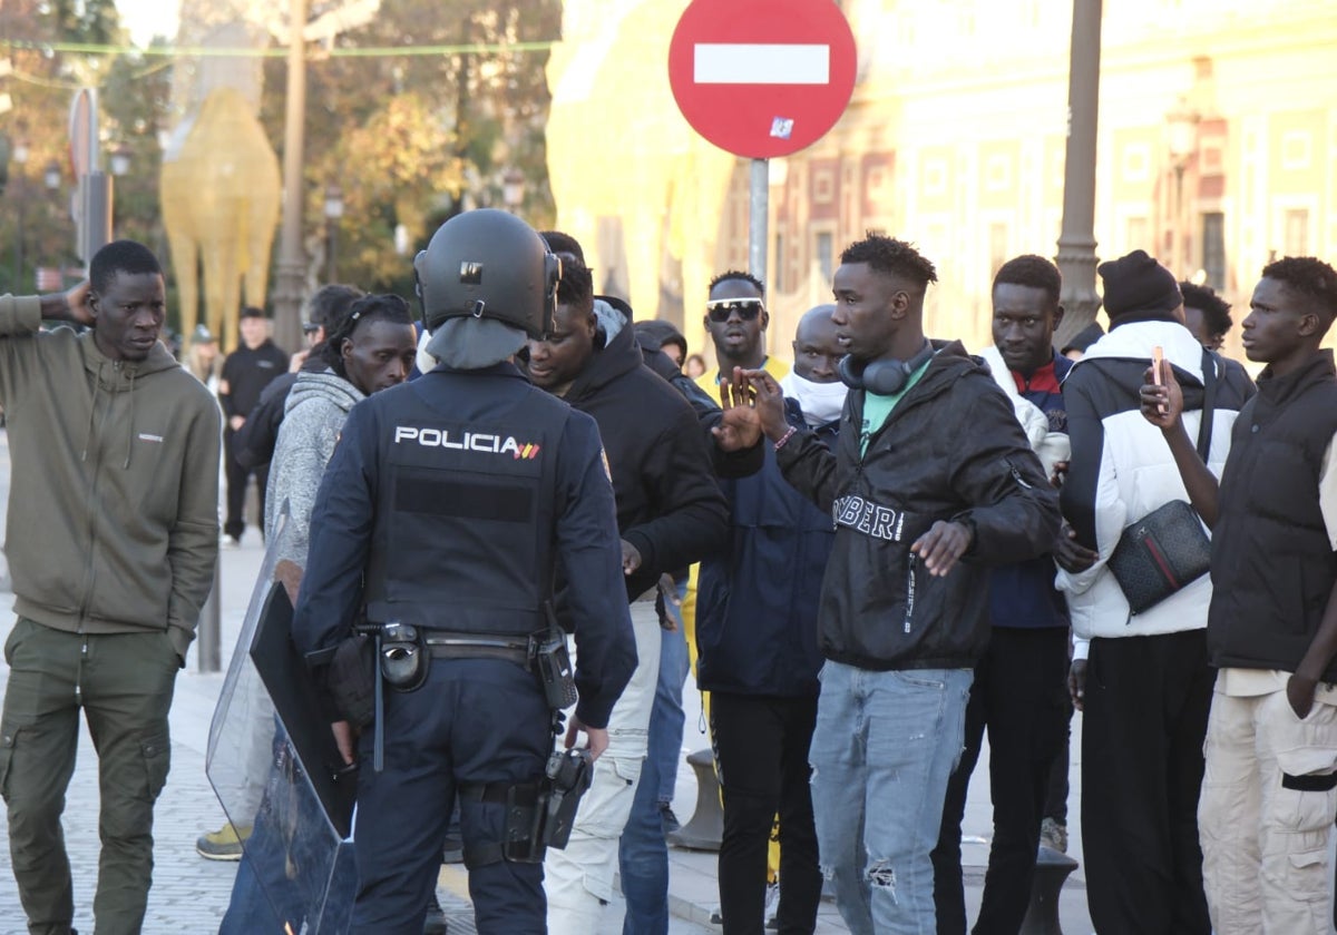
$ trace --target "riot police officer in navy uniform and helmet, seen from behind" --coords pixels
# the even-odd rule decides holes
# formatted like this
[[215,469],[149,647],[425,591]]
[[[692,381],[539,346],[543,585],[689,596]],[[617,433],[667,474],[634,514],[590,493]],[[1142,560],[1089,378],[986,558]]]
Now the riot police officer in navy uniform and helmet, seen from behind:
[[[380,691],[381,727],[357,741],[350,931],[421,932],[459,793],[479,931],[543,932],[541,842],[517,827],[554,747],[533,646],[552,632],[560,562],[574,585],[575,720],[598,756],[636,661],[612,486],[594,419],[511,361],[550,330],[560,266],[541,238],[509,214],[467,212],[414,270],[441,366],[349,413],[312,516],[293,636],[336,699],[366,657],[354,630],[377,633],[376,671],[398,683]],[[334,729],[352,761],[348,723]],[[370,765],[378,747],[384,771]]]

